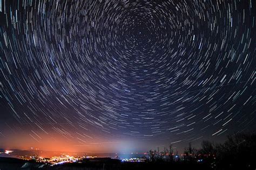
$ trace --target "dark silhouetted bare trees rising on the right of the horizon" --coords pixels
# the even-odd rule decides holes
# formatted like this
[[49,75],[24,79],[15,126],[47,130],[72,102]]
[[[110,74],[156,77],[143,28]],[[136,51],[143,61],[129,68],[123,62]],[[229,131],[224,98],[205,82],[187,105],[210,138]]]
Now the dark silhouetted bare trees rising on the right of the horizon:
[[173,151],[172,145],[147,154],[150,162],[201,164],[211,169],[256,169],[256,134],[229,135],[223,144],[203,141],[201,148],[190,143],[181,155]]

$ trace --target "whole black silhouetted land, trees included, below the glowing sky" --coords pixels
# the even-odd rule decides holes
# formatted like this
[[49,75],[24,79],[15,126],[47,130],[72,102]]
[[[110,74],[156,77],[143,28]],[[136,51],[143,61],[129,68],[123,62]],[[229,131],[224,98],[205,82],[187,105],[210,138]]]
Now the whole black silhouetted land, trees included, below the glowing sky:
[[[83,158],[77,162],[51,165],[36,159],[0,158],[0,169],[255,169],[256,134],[229,135],[223,144],[201,142],[200,148],[188,144],[184,152],[150,150],[138,160]],[[38,156],[38,155],[37,155]]]

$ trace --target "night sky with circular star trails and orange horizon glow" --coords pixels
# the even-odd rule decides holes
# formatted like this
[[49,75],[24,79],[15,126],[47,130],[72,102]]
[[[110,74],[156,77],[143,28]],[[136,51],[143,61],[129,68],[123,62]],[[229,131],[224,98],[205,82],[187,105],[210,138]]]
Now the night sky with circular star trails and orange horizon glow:
[[255,6],[0,0],[0,148],[144,152],[252,132]]

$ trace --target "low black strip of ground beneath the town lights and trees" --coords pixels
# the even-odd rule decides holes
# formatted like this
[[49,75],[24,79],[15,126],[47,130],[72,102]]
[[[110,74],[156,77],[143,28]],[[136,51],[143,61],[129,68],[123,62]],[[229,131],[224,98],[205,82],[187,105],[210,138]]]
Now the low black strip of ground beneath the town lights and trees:
[[255,167],[225,167],[216,168],[207,164],[197,162],[122,162],[111,158],[99,158],[93,160],[84,160],[79,163],[68,163],[61,165],[46,165],[33,161],[25,161],[16,158],[0,158],[1,170],[12,169],[64,169],[64,170],[99,170],[99,169],[255,169]]

